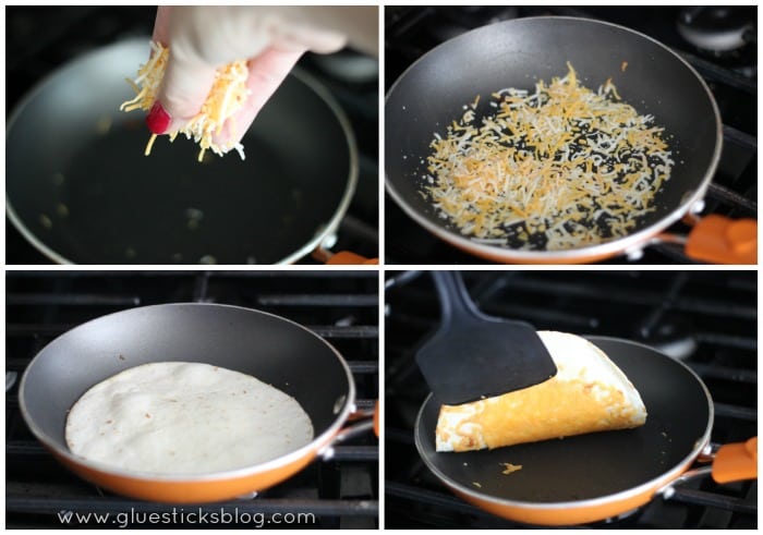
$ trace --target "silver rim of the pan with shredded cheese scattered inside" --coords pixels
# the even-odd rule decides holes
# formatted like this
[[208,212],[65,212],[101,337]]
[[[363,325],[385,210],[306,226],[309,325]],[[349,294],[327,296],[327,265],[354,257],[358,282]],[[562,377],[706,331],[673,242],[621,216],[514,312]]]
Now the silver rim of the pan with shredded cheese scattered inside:
[[[678,203],[678,206],[665,216],[663,216],[663,218],[658,221],[655,221],[649,227],[645,227],[637,232],[629,233],[622,238],[618,238],[616,240],[610,240],[595,245],[589,245],[585,247],[568,248],[560,251],[523,251],[519,248],[501,247],[497,245],[487,245],[479,243],[470,238],[464,236],[463,234],[458,233],[457,231],[452,231],[450,229],[432,222],[428,218],[424,217],[422,214],[419,212],[419,210],[411,206],[404,198],[404,196],[395,189],[395,185],[390,181],[386,170],[387,168],[385,166],[385,186],[387,192],[395,199],[397,205],[400,208],[402,208],[403,211],[410,218],[412,218],[415,222],[424,227],[431,233],[435,234],[436,236],[446,242],[449,242],[451,245],[456,245],[458,247],[461,247],[462,250],[468,251],[471,254],[482,257],[500,258],[502,262],[508,263],[576,263],[585,262],[586,258],[611,257],[623,253],[635,254],[641,252],[643,248],[652,244],[652,241],[655,240],[655,236],[657,236],[657,234],[659,234],[673,223],[679,221],[688,212],[694,211],[693,207],[702,203],[707,192],[707,187],[710,186],[710,183],[713,180],[715,170],[717,169],[718,162],[720,160],[720,153],[723,149],[723,120],[720,119],[720,111],[718,109],[717,102],[715,101],[715,97],[713,97],[713,93],[710,90],[710,87],[707,87],[707,84],[702,78],[702,76],[700,76],[697,70],[693,66],[691,66],[691,64],[689,64],[688,61],[686,61],[683,58],[681,58],[680,54],[676,53],[657,39],[619,24],[578,16],[526,16],[522,19],[513,19],[511,21],[502,21],[494,24],[488,24],[479,28],[474,28],[470,32],[453,37],[452,39],[441,42],[437,47],[428,50],[421,58],[419,58],[411,65],[409,65],[408,69],[405,69],[405,71],[390,86],[389,92],[387,92],[387,95],[385,96],[385,109],[389,104],[390,96],[398,87],[398,85],[402,82],[402,80],[408,75],[409,71],[414,69],[420,62],[423,62],[431,53],[434,53],[440,47],[444,47],[445,45],[451,41],[457,41],[461,38],[465,38],[472,33],[477,33],[484,28],[498,25],[522,24],[523,21],[574,21],[576,23],[584,22],[617,28],[620,32],[626,32],[628,34],[632,34],[640,38],[646,39],[647,41],[651,41],[653,45],[663,49],[665,52],[678,60],[680,64],[682,64],[686,69],[688,69],[688,71],[700,83],[700,86],[704,89],[705,96],[707,97],[713,109],[713,117],[715,119],[715,148],[713,150],[710,165],[705,170],[704,177],[702,177],[702,179],[699,181],[699,184],[694,190],[693,194],[685,195],[683,199],[680,203]],[[658,240],[658,238],[656,238],[656,240]]]

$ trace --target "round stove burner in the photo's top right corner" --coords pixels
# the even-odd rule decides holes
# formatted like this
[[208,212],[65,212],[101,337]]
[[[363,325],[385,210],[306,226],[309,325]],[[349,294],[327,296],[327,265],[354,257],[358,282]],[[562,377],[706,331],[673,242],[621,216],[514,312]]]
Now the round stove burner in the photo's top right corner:
[[697,48],[723,54],[756,42],[754,21],[754,8],[710,5],[681,10],[677,25]]

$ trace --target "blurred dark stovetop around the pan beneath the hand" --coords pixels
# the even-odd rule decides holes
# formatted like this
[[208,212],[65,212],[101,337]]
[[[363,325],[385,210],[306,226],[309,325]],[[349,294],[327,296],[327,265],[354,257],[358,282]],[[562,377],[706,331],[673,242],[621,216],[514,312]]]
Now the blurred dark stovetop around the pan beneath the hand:
[[[122,39],[148,35],[153,7],[9,7],[7,9],[7,112],[45,76],[72,59]],[[305,54],[299,66],[320,82],[350,120],[359,149],[359,180],[332,251],[378,256],[378,64],[344,49]],[[50,264],[5,218],[10,264]],[[316,264],[305,258],[301,264]]]

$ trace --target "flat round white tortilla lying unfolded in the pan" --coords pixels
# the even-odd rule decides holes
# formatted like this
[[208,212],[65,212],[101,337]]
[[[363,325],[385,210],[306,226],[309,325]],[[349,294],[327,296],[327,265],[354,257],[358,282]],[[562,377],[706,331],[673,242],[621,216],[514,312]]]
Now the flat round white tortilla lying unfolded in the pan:
[[197,475],[256,465],[313,439],[296,400],[239,372],[158,362],[90,388],[66,420],[69,449],[126,471]]

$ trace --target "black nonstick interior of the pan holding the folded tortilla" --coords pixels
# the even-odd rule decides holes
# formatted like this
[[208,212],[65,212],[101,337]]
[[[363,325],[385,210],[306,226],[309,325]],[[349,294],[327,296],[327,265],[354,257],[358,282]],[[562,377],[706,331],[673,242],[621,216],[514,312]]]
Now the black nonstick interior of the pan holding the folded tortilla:
[[[710,436],[712,400],[682,364],[645,345],[590,337],[639,390],[646,424],[628,430],[464,453],[436,452],[439,404],[427,398],[415,428],[416,447],[440,478],[484,497],[526,503],[602,498],[655,479],[697,455]],[[501,463],[522,465],[502,474]]]

